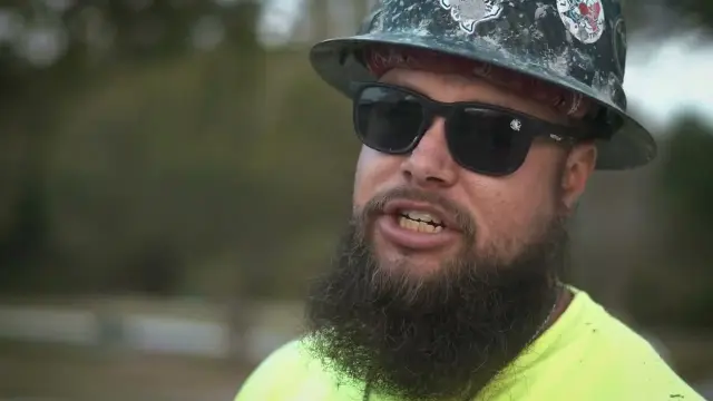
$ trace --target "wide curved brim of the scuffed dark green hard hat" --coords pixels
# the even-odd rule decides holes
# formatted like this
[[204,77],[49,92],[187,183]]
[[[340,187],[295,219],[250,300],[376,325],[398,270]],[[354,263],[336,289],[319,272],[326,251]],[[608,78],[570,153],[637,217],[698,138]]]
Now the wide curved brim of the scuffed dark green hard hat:
[[[648,164],[656,157],[657,147],[651,133],[636,119],[612,100],[612,94],[599,92],[566,75],[555,75],[535,60],[515,58],[496,48],[475,48],[458,39],[442,39],[413,33],[378,32],[346,38],[335,38],[314,45],[310,51],[310,62],[316,74],[330,86],[351,97],[353,82],[369,82],[377,78],[358,60],[355,50],[373,43],[430,49],[446,55],[489,62],[534,78],[577,91],[604,106],[618,116],[623,125],[608,139],[597,139],[597,163],[599,170],[621,170]],[[467,46],[465,46],[467,45]],[[468,46],[470,48],[468,48]],[[465,49],[468,49],[466,52]]]

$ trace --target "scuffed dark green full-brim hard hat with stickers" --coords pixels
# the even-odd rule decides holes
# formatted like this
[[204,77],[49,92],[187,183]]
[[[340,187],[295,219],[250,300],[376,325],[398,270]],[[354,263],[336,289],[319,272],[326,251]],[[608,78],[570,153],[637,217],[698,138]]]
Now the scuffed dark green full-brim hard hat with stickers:
[[354,82],[379,78],[365,60],[373,47],[487,63],[589,101],[597,106],[586,117],[597,133],[597,169],[633,168],[656,156],[652,135],[626,111],[618,0],[381,0],[355,36],[316,43],[310,60],[351,96]]

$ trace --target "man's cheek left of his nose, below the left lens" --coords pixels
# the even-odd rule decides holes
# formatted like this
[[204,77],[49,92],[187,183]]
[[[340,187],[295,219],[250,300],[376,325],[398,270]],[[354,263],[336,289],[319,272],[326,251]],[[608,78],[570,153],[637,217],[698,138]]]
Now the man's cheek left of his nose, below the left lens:
[[389,183],[398,179],[401,158],[362,146],[354,175],[354,207],[361,207]]

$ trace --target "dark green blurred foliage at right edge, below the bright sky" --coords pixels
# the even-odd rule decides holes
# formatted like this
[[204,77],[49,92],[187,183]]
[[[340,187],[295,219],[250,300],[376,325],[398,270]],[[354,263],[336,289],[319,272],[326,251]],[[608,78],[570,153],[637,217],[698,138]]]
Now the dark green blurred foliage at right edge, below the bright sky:
[[713,133],[683,118],[661,155],[656,194],[666,213],[663,266],[646,266],[632,287],[633,312],[643,323],[712,327]]

